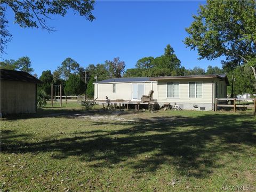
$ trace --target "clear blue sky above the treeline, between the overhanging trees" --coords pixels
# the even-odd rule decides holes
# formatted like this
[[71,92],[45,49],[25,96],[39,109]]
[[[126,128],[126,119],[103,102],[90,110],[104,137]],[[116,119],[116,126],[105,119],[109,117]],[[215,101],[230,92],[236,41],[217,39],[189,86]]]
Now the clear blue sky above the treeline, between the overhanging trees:
[[3,59],[28,56],[38,77],[42,71],[54,71],[70,57],[81,66],[104,63],[120,57],[126,68],[133,68],[142,57],[158,57],[171,44],[186,68],[221,67],[220,59],[198,60],[197,51],[190,51],[182,42],[186,27],[193,21],[204,1],[97,1],[93,22],[69,12],[47,23],[57,31],[48,33],[41,28],[22,29],[13,23],[9,9],[9,31],[13,39]]

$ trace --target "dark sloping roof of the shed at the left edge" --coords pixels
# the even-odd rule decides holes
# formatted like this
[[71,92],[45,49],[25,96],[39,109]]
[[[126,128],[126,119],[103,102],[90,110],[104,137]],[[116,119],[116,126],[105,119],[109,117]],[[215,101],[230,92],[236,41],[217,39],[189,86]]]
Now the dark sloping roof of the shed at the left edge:
[[21,81],[30,83],[42,83],[39,79],[25,71],[1,69],[1,81]]

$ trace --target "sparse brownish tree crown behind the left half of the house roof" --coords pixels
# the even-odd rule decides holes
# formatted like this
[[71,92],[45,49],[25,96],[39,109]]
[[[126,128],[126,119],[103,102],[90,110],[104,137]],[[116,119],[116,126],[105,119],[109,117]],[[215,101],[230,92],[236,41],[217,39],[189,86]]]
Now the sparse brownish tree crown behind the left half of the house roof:
[[113,61],[105,61],[105,64],[109,68],[110,77],[122,77],[124,73],[125,62],[121,61],[119,57],[114,58]]

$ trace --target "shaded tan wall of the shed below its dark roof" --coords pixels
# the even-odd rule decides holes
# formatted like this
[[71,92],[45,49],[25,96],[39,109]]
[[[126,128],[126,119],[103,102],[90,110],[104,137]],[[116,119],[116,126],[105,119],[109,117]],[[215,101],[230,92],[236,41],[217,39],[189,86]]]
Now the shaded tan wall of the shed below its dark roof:
[[36,84],[1,81],[1,113],[36,113]]

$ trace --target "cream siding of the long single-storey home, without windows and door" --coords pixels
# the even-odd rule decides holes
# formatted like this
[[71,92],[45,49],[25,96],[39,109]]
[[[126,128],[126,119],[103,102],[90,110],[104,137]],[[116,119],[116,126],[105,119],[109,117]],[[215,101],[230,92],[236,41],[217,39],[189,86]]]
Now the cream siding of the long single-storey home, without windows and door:
[[[179,98],[167,98],[169,82],[179,82]],[[189,82],[202,82],[202,98],[189,98]],[[226,98],[227,93],[226,82],[219,78],[161,79],[157,82],[98,83],[98,88],[97,84],[94,84],[94,99],[105,100],[107,96],[110,100],[132,100],[132,84],[138,83],[145,84],[143,94],[148,94],[150,90],[154,91],[153,99],[157,100],[160,106],[164,103],[177,103],[182,109],[214,110],[215,98]],[[116,93],[113,93],[113,84],[116,84]]]

